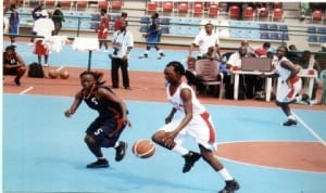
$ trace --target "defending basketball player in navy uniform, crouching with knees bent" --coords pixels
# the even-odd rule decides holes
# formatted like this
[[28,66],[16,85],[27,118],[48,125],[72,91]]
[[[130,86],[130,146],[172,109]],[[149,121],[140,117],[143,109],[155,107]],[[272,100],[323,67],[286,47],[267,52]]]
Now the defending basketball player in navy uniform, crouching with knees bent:
[[131,127],[127,118],[126,104],[101,81],[102,73],[86,70],[79,75],[83,89],[77,92],[72,106],[64,112],[71,117],[78,108],[82,101],[92,110],[99,112],[99,116],[86,130],[85,142],[90,152],[98,158],[97,162],[87,165],[87,168],[109,167],[101,147],[115,147],[115,160],[124,158],[127,143],[118,141],[126,126]]

